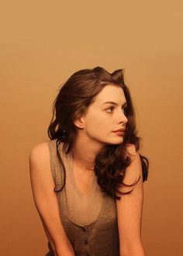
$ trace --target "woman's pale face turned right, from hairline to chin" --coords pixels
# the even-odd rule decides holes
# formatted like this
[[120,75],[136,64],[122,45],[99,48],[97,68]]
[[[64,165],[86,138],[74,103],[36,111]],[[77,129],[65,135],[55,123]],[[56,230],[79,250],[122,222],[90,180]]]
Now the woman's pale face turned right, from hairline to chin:
[[105,85],[85,115],[81,116],[85,136],[101,144],[123,143],[124,132],[116,130],[125,130],[125,108],[123,89],[116,85]]

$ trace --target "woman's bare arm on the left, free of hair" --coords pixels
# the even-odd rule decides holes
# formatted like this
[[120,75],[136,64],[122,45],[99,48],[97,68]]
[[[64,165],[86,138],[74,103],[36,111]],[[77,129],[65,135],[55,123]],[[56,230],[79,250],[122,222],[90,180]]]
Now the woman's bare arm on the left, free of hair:
[[[50,170],[50,152],[47,143],[33,148],[29,155],[29,174],[36,209],[40,214],[47,237],[54,248],[67,244],[67,235],[60,221],[57,195]],[[61,243],[60,243],[61,242]]]

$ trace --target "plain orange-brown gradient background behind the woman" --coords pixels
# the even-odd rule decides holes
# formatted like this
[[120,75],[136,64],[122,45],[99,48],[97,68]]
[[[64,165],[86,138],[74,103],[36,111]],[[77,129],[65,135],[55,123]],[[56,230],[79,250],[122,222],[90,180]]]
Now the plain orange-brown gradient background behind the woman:
[[[0,254],[42,256],[29,151],[47,140],[51,106],[74,71],[124,67],[137,109],[147,256],[183,255],[182,1],[6,1],[1,6]],[[99,255],[98,255],[99,256]]]

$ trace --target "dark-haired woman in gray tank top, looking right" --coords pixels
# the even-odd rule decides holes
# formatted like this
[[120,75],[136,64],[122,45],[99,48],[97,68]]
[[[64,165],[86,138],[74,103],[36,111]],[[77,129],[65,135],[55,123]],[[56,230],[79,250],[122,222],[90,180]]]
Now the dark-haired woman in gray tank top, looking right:
[[48,134],[29,157],[47,255],[144,256],[148,160],[139,153],[123,70],[72,74],[55,99]]

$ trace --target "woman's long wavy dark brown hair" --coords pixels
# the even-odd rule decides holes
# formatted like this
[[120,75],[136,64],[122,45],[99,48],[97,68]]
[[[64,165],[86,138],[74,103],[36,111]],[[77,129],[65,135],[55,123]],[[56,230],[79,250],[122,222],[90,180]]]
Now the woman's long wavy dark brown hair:
[[[112,197],[112,199],[120,199],[116,192],[123,195],[119,191],[121,185],[133,186],[140,177],[130,185],[123,182],[126,168],[131,160],[127,152],[127,146],[133,144],[136,150],[140,149],[141,138],[137,136],[136,118],[133,108],[133,102],[129,93],[129,89],[125,85],[123,69],[113,71],[111,74],[102,67],[93,69],[83,69],[75,72],[60,88],[53,105],[53,116],[48,127],[48,136],[50,140],[56,140],[57,157],[64,171],[64,183],[59,190],[54,188],[54,192],[60,192],[64,189],[66,170],[64,162],[60,157],[59,145],[63,143],[64,153],[68,154],[73,147],[77,137],[77,127],[74,120],[85,113],[88,106],[95,101],[95,97],[106,85],[116,85],[123,89],[126,97],[127,106],[125,109],[126,132],[123,137],[122,144],[109,144],[105,146],[95,157],[95,175],[97,176],[98,185],[102,192]],[[140,154],[140,161],[143,170],[143,182],[147,180],[149,162],[147,157]],[[131,192],[133,189],[130,189]],[[124,192],[124,193],[129,193]]]

